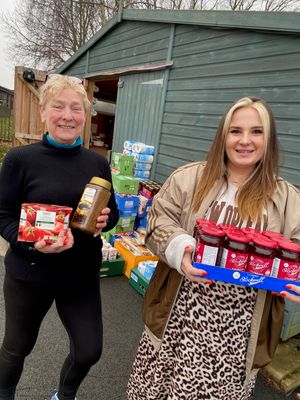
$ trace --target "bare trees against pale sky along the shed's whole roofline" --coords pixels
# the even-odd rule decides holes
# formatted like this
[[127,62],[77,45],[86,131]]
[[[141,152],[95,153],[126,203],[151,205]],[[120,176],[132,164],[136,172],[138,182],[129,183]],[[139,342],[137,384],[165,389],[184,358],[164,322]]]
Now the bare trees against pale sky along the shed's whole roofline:
[[72,56],[119,8],[296,11],[300,0],[19,0],[0,26],[16,63],[54,69]]

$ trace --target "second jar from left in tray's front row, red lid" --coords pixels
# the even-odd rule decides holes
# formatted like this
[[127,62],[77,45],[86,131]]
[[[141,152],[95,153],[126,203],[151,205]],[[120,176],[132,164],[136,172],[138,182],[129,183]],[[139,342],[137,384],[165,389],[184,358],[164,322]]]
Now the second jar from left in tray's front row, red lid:
[[246,271],[250,238],[238,232],[227,232],[220,266]]

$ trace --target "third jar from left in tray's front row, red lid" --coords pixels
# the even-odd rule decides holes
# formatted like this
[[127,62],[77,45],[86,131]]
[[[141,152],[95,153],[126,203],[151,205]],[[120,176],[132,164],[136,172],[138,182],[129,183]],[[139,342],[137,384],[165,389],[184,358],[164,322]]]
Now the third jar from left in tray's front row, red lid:
[[261,234],[252,237],[247,271],[258,275],[271,275],[277,244]]

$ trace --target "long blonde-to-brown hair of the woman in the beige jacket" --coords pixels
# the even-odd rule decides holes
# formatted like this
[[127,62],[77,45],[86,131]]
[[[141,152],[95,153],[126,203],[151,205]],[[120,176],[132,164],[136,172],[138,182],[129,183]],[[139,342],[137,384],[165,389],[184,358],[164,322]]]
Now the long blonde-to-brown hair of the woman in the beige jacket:
[[279,143],[272,110],[265,101],[259,98],[243,97],[225,111],[220,121],[194,197],[194,211],[198,210],[201,202],[218,180],[225,178],[227,181],[226,136],[233,113],[243,107],[251,107],[257,110],[263,125],[265,149],[262,159],[258,161],[252,174],[238,189],[236,201],[240,217],[243,220],[250,218],[253,221],[261,218],[267,200],[273,195],[276,189]]

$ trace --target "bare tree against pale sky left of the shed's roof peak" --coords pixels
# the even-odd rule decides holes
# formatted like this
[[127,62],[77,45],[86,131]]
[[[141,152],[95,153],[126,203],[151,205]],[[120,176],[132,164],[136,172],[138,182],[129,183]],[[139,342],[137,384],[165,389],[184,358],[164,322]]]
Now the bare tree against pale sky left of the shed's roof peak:
[[2,15],[9,55],[16,62],[55,68],[100,28],[99,3],[84,0],[19,1]]

